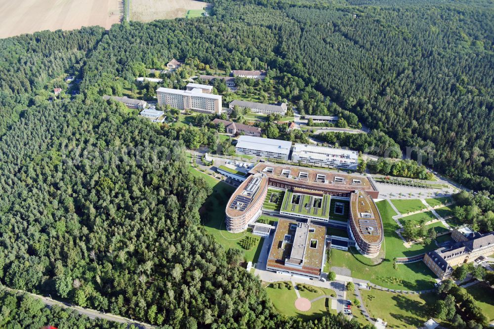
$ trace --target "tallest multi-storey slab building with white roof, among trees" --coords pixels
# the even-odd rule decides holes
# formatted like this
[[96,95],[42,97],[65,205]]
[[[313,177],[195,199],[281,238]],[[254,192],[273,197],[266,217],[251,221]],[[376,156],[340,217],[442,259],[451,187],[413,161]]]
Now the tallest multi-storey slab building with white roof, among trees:
[[200,88],[180,90],[158,88],[158,104],[169,105],[179,110],[193,110],[208,114],[221,114],[221,96],[203,93]]

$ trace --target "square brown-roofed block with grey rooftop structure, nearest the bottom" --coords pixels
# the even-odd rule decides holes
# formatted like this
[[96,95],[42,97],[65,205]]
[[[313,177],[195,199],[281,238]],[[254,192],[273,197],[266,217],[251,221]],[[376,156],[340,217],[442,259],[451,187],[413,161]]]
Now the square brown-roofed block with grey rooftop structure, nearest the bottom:
[[325,240],[323,226],[280,219],[266,269],[319,279],[326,263]]

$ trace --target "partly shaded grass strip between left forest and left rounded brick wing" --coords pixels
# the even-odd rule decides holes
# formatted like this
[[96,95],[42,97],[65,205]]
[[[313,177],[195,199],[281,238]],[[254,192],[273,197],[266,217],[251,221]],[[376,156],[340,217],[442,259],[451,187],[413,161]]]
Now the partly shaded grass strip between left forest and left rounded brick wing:
[[[206,199],[206,204],[211,206],[211,210],[207,211],[208,220],[202,225],[207,233],[211,234],[216,241],[226,250],[229,248],[237,248],[244,252],[244,258],[247,261],[256,262],[262,248],[262,240],[258,236],[250,233],[247,230],[242,233],[230,233],[225,228],[225,207],[228,199],[235,191],[235,188],[218,181],[217,179],[198,171],[195,168],[189,167],[189,171],[196,177],[206,179],[207,184],[213,189],[212,194]],[[254,237],[258,240],[258,244],[250,250],[245,250],[240,246],[240,241],[247,236]]]

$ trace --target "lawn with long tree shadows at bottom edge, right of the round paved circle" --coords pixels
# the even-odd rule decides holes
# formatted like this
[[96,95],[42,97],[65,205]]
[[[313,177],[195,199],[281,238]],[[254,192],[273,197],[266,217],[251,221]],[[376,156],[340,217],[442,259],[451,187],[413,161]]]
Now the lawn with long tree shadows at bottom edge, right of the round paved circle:
[[430,318],[429,307],[436,301],[433,293],[399,294],[377,289],[361,290],[367,311],[386,321],[389,328],[419,328]]

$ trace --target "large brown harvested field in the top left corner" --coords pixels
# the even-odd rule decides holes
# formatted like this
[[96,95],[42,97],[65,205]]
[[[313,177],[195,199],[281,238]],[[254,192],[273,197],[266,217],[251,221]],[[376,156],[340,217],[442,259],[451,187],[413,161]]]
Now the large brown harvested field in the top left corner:
[[0,1],[0,38],[43,30],[73,30],[120,23],[122,0]]

